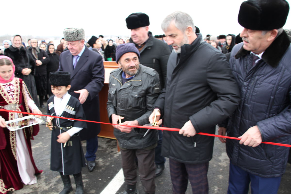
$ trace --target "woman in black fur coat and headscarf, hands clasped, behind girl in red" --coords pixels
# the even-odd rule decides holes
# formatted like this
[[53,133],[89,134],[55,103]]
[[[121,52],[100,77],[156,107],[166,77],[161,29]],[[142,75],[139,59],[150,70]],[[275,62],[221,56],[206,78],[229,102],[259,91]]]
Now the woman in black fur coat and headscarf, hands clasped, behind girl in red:
[[35,62],[28,51],[22,47],[22,38],[20,35],[14,35],[11,42],[12,45],[5,49],[4,55],[13,60],[15,65],[15,76],[24,81],[33,101],[39,106],[36,83],[33,77]]

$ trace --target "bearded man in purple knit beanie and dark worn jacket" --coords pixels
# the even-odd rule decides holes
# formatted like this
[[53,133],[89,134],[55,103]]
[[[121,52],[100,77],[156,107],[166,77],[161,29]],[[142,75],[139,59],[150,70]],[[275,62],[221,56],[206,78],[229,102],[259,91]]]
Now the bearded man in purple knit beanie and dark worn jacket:
[[158,130],[118,125],[144,125],[160,93],[159,74],[139,64],[139,50],[132,43],[116,48],[119,69],[109,77],[107,112],[118,140],[126,190],[119,194],[137,194],[135,158],[145,194],[155,193],[155,147]]

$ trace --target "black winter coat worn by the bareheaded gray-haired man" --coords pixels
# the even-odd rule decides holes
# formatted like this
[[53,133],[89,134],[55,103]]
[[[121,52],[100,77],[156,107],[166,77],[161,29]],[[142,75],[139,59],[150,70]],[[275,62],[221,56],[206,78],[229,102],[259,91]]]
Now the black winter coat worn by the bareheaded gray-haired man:
[[[239,90],[226,57],[203,41],[201,34],[191,45],[181,47],[180,60],[172,52],[167,66],[167,84],[155,107],[164,115],[164,126],[181,129],[191,121],[196,132],[215,134],[215,125],[235,111]],[[214,138],[187,137],[164,131],[162,155],[182,163],[211,160]]]

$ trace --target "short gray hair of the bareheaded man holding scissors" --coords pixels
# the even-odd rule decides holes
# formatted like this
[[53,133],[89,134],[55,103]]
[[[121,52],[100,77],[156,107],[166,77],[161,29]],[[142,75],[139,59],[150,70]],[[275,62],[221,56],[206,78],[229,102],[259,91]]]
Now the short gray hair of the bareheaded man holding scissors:
[[183,33],[188,26],[193,28],[193,32],[196,31],[196,27],[194,26],[193,20],[189,14],[181,11],[175,11],[163,20],[161,27],[164,32],[168,29],[172,21],[174,21],[176,28],[178,28]]

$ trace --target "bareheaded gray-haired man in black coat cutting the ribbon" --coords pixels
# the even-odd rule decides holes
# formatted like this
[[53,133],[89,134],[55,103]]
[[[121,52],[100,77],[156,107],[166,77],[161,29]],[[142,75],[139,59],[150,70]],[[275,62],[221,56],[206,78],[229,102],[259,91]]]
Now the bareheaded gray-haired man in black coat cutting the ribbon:
[[[163,118],[162,156],[170,158],[173,194],[184,194],[188,179],[193,193],[208,193],[207,170],[212,158],[215,125],[226,119],[239,103],[239,90],[226,57],[195,33],[192,18],[174,12],[162,22],[172,45],[166,87],[155,102],[150,123]],[[162,120],[159,120],[158,125]]]

